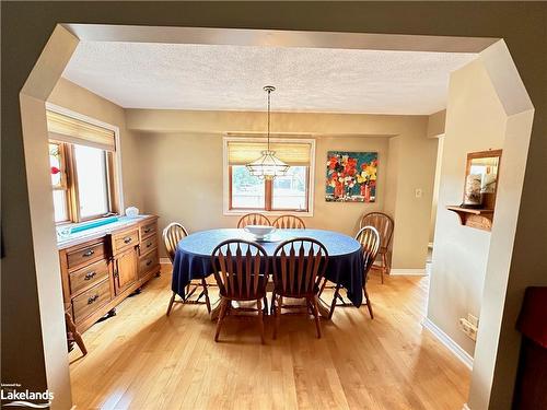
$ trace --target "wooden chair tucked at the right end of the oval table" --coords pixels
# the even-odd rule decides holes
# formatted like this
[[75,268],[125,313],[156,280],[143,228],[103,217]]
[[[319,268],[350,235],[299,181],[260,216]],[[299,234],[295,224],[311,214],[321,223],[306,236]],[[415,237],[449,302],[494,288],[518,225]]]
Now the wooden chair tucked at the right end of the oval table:
[[[371,319],[374,318],[374,314],[372,313],[372,305],[369,298],[369,292],[366,291],[366,280],[369,277],[369,271],[371,270],[374,260],[376,259],[379,248],[380,248],[380,234],[376,229],[373,226],[364,226],[359,230],[356,235],[356,241],[361,244],[364,269],[363,269],[363,294],[366,307],[369,308],[369,314],[371,315]],[[333,302],[330,303],[330,311],[328,312],[328,318],[333,318],[333,314],[335,313],[336,306],[353,306],[352,303],[345,302],[340,295],[341,284],[337,283],[335,285],[327,285],[328,280],[326,278],[323,279],[321,288],[319,288],[319,297],[323,294],[325,289],[334,289]]]

